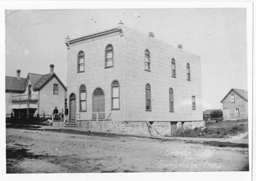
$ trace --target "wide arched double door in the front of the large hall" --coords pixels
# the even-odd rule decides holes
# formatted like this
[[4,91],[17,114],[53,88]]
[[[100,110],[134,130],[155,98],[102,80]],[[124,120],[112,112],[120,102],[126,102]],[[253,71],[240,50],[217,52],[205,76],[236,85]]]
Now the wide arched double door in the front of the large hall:
[[97,118],[99,112],[99,119],[105,118],[105,99],[104,92],[101,88],[96,88],[92,95],[92,118]]

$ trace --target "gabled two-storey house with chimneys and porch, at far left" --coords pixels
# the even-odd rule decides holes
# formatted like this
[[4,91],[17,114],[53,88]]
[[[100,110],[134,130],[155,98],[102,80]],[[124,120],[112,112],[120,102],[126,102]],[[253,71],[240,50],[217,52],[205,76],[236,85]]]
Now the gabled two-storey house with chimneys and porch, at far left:
[[28,116],[52,115],[54,107],[65,110],[65,91],[67,88],[54,73],[54,65],[50,65],[50,73],[45,75],[29,73],[27,78],[6,76],[6,116],[12,113],[19,118]]

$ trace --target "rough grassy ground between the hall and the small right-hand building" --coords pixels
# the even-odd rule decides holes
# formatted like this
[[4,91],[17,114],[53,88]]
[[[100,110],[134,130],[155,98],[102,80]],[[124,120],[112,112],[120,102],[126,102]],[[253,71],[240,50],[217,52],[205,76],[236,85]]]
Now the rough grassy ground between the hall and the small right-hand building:
[[179,129],[177,136],[194,138],[230,138],[246,132],[248,132],[248,120],[237,120],[205,122],[204,129]]

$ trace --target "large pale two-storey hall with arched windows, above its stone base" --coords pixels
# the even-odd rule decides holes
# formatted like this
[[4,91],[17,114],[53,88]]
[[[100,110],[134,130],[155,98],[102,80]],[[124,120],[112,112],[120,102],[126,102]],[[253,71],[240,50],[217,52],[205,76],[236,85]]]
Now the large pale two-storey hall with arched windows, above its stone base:
[[93,122],[97,112],[111,122],[204,125],[200,57],[182,45],[173,47],[122,23],[68,38],[66,45],[70,118],[79,125]]

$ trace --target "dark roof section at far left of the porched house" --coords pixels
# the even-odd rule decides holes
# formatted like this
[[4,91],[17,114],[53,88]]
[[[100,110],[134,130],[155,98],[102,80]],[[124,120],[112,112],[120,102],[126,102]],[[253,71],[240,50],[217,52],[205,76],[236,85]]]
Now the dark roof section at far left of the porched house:
[[24,91],[24,84],[26,78],[5,76],[5,90],[6,91]]

